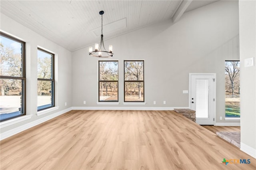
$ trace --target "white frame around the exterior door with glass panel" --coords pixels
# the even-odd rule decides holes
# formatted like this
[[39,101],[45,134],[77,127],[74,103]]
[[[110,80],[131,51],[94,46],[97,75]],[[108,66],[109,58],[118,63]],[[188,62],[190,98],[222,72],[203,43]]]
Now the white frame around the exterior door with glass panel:
[[213,89],[214,89],[214,102],[213,102],[213,117],[214,117],[214,126],[216,125],[216,73],[189,73],[189,93],[188,93],[188,107],[191,109],[191,76],[192,75],[213,75]]

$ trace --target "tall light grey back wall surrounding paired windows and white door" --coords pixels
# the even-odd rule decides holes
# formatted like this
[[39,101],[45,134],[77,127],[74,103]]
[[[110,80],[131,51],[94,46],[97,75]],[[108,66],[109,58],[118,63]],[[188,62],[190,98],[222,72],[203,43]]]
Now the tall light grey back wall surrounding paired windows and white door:
[[[111,60],[119,61],[120,104],[114,107],[127,107],[124,60],[144,59],[146,105],[128,107],[188,107],[188,94],[182,94],[188,74],[216,73],[217,122],[225,122],[219,120],[225,117],[225,60],[239,59],[238,27],[238,1],[219,1],[185,13],[175,24],[167,20],[105,41],[113,45]],[[74,107],[113,107],[96,103],[98,60],[88,47],[72,53]]]

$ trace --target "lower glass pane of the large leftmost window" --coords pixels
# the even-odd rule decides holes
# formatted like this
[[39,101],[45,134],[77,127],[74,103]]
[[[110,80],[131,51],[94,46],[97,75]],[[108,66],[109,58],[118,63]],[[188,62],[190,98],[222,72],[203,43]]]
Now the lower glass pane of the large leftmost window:
[[22,90],[24,81],[20,79],[0,79],[0,119],[8,119],[24,114]]

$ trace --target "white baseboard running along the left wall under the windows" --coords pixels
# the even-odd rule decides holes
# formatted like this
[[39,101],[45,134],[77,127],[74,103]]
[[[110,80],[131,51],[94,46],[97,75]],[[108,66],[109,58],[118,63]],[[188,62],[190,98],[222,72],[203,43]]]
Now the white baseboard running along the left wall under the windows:
[[22,132],[28,128],[32,128],[36,125],[39,125],[40,123],[44,123],[45,121],[48,121],[50,119],[53,119],[54,117],[57,117],[59,115],[62,115],[68,111],[71,111],[72,107],[68,108],[68,109],[65,109],[65,110],[62,110],[62,111],[59,111],[59,112],[56,112],[56,113],[53,113],[52,115],[49,115],[49,116],[46,116],[46,117],[43,117],[41,119],[38,119],[36,121],[33,121],[33,122],[30,122],[30,123],[27,123],[25,125],[22,125],[22,126],[19,126],[19,127],[16,127],[16,128],[13,128],[12,130],[8,130],[6,132],[3,132],[0,134],[0,140],[3,140],[5,138],[8,138],[14,134],[17,134],[19,132]]

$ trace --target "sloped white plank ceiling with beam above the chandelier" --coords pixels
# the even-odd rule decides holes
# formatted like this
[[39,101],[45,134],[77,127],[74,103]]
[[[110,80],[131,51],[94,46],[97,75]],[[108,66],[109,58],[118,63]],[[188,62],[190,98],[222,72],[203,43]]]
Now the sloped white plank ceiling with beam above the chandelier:
[[0,11],[75,51],[100,41],[96,35],[101,34],[101,10],[105,12],[106,40],[171,18],[177,22],[184,12],[213,2],[216,0],[1,0]]

